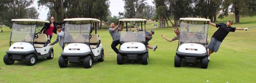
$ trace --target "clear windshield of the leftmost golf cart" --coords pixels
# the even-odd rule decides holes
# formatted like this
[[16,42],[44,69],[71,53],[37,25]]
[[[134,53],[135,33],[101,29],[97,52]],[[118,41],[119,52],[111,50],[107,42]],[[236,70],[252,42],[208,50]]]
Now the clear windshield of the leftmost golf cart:
[[29,42],[34,41],[35,36],[35,23],[13,23],[11,42]]

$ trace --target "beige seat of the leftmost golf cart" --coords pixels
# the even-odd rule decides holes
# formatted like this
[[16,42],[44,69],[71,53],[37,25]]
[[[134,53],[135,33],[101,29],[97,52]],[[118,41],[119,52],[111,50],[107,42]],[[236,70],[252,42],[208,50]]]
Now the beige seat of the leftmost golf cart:
[[38,38],[34,39],[35,48],[43,48],[47,45],[47,40],[46,34],[38,34]]

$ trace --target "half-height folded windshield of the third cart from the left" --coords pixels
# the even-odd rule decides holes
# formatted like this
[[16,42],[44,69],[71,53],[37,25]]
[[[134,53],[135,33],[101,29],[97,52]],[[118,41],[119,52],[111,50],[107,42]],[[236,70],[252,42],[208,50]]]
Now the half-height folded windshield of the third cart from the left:
[[145,31],[121,31],[120,42],[145,42]]

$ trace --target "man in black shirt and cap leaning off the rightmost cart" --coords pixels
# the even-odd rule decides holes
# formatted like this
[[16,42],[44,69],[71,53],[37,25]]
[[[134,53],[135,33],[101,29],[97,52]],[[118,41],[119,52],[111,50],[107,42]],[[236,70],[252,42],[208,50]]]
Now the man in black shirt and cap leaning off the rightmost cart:
[[209,43],[208,49],[209,49],[209,54],[208,54],[208,60],[210,60],[210,54],[213,52],[217,52],[218,48],[221,45],[221,42],[224,40],[224,38],[227,36],[227,34],[232,31],[235,32],[236,30],[245,30],[247,31],[248,28],[238,28],[238,27],[231,27],[233,24],[232,20],[227,21],[227,23],[211,23],[209,22],[212,26],[215,26],[218,28],[217,31],[212,35],[211,42]]

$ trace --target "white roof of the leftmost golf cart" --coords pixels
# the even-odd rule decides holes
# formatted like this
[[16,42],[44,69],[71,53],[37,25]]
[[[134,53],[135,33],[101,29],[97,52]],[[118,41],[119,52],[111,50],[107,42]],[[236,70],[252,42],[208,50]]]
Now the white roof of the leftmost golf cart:
[[15,23],[50,23],[49,21],[40,19],[12,19],[12,21],[15,21]]

